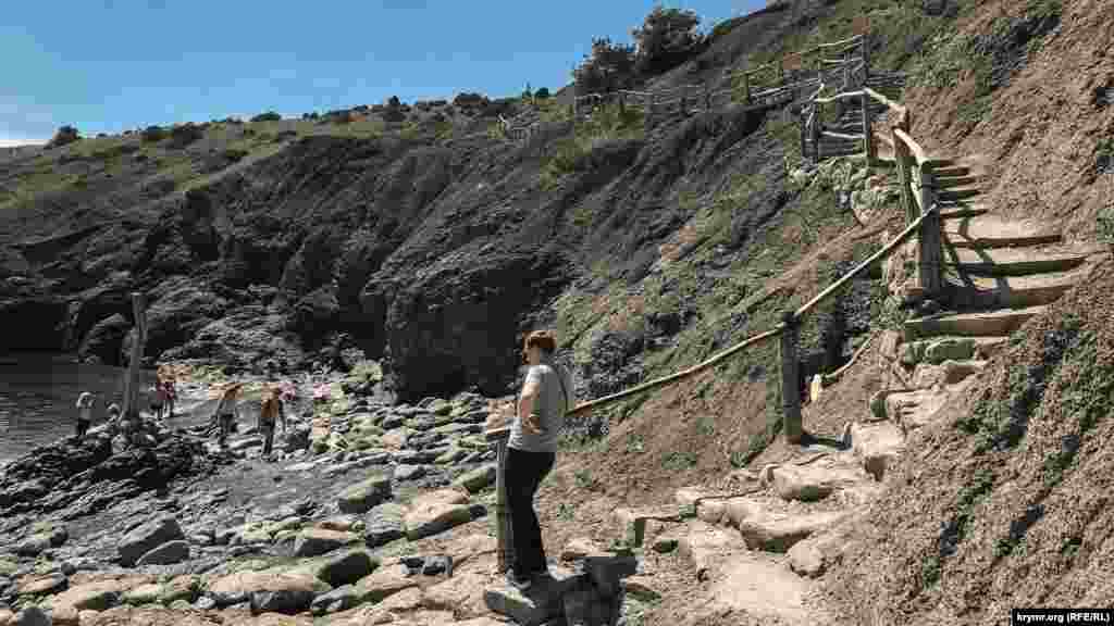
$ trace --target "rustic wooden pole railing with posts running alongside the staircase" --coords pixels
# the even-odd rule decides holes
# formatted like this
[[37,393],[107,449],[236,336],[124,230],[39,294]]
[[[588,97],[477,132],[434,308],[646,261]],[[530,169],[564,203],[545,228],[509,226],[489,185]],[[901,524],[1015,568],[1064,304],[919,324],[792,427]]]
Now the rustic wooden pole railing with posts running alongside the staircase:
[[[831,46],[848,45],[848,42],[856,42],[860,39],[862,39],[862,36],[852,38],[847,42],[821,46],[817,49],[828,50],[831,49]],[[799,330],[804,317],[820,303],[838,294],[851,281],[862,275],[873,264],[883,261],[913,236],[917,236],[918,238],[919,286],[928,295],[940,291],[942,281],[940,214],[939,205],[936,202],[936,185],[934,183],[932,175],[932,168],[939,164],[939,162],[929,158],[925,149],[912,138],[910,129],[911,115],[909,109],[900,104],[893,102],[883,95],[878,94],[864,85],[866,77],[868,76],[869,58],[866,56],[866,46],[862,46],[861,50],[863,52],[859,59],[844,58],[843,60],[837,60],[821,57],[819,61],[817,61],[818,63],[830,62],[831,65],[836,65],[839,62],[838,74],[830,75],[820,70],[817,72],[817,78],[812,79],[812,81],[798,82],[794,85],[794,88],[800,88],[802,85],[815,88],[815,90],[812,91],[805,99],[804,106],[802,107],[801,116],[804,121],[802,121],[801,126],[801,140],[803,145],[804,133],[812,133],[814,141],[813,145],[819,148],[819,137],[823,136],[824,133],[823,130],[819,130],[819,114],[821,108],[825,105],[839,105],[849,98],[860,98],[863,105],[863,131],[860,136],[854,136],[852,138],[862,140],[863,155],[866,156],[868,165],[878,160],[887,160],[878,157],[877,150],[874,149],[877,145],[876,141],[880,140],[892,147],[892,160],[897,168],[901,190],[901,205],[906,214],[905,229],[880,251],[872,254],[869,258],[841,276],[834,283],[817,294],[812,300],[808,301],[795,311],[785,311],[782,315],[781,323],[775,325],[773,329],[747,338],[741,343],[686,370],[644,382],[618,393],[613,393],[610,395],[605,395],[603,398],[597,398],[578,404],[569,410],[566,413],[567,415],[580,415],[593,409],[631,398],[638,393],[645,393],[667,384],[680,382],[719,364],[725,359],[733,356],[747,348],[772,340],[773,338],[779,338],[782,431],[789,442],[799,443],[803,437],[803,424],[801,423],[802,393],[798,343],[800,339]],[[763,69],[764,68],[756,68],[752,71],[762,71]],[[778,72],[782,74],[783,71],[784,65],[779,63]],[[746,72],[744,76],[749,74],[750,72]],[[828,86],[824,82],[824,79],[832,80],[832,84],[838,82],[841,85],[843,90],[851,86],[858,86],[860,89],[851,92],[844,91],[828,98],[821,98],[821,92],[823,92]],[[746,81],[744,81],[743,85],[745,86]],[[786,88],[786,86],[775,89],[784,88]],[[682,96],[682,98],[684,98],[684,96]],[[886,135],[879,135],[873,130],[873,119],[871,118],[869,106],[870,100],[881,102],[890,113],[893,114],[891,119],[896,119],[896,121],[891,125],[889,133]],[[648,101],[651,102],[651,109],[653,109],[655,100],[651,98]],[[821,150],[818,150],[815,158],[822,158]],[[515,410],[517,412],[517,407]],[[509,434],[509,428],[499,428],[486,432],[487,440],[496,443],[497,446],[496,513],[498,522],[497,539],[499,546],[498,556],[500,571],[506,570],[512,559],[511,530],[509,525],[510,518],[506,503],[506,476],[504,471],[507,439]]]

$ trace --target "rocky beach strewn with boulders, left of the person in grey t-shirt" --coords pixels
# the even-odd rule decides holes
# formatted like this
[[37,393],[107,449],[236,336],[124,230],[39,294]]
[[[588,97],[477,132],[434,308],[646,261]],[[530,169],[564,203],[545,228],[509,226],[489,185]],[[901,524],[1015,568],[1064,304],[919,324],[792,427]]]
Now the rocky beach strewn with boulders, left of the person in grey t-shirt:
[[[226,449],[205,437],[209,381],[187,379],[169,424],[145,415],[141,444],[98,424],[3,466],[0,624],[507,619],[489,606],[522,623],[560,617],[548,615],[560,603],[539,608],[497,575],[482,431],[499,402],[390,405],[352,374],[305,376],[287,382],[287,428],[264,458],[264,384],[245,381]],[[557,597],[590,579],[550,573]]]

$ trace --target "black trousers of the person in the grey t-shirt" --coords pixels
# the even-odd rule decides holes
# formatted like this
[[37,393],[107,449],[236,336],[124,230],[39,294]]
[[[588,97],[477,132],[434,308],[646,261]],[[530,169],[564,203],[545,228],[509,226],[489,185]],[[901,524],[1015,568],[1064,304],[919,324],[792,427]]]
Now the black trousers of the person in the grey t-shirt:
[[546,551],[541,546],[538,515],[534,512],[534,495],[556,460],[554,452],[507,449],[507,506],[510,508],[516,576],[546,570]]

